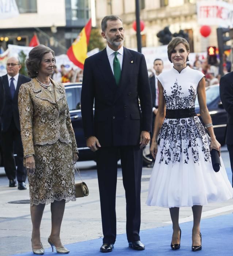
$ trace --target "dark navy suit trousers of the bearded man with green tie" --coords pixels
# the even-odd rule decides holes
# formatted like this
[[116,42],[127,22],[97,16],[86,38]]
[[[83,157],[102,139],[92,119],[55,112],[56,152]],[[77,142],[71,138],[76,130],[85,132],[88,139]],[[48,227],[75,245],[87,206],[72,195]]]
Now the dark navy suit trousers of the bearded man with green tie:
[[103,243],[116,240],[117,161],[121,157],[126,197],[126,234],[128,242],[140,240],[142,149],[139,146],[101,147],[96,151],[102,216]]

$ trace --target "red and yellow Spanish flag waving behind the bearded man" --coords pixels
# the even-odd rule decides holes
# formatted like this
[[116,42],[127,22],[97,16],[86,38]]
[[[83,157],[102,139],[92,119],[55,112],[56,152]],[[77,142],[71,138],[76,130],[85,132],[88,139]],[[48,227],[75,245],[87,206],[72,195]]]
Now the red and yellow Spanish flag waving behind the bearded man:
[[69,59],[79,68],[83,69],[84,61],[87,58],[87,45],[91,34],[91,19],[77,36],[67,51]]

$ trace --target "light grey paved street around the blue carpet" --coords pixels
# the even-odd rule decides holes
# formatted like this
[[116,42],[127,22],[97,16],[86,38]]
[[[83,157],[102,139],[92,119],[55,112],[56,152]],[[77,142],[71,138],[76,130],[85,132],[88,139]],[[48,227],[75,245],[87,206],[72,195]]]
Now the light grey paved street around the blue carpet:
[[[229,170],[229,156],[225,147],[222,148],[222,158],[225,163],[225,167]],[[66,204],[61,232],[61,238],[64,244],[72,244],[79,241],[92,240],[102,237],[96,164],[93,161],[79,162],[79,168],[83,180],[88,185],[89,196],[79,198],[76,202],[69,202]],[[145,205],[151,171],[152,169],[150,168],[144,168],[142,173],[141,230],[171,225],[168,209],[160,207],[149,207]],[[76,176],[76,181],[78,180],[79,178]],[[30,204],[11,203],[12,201],[28,199],[28,189],[26,191],[19,191],[17,188],[8,187],[8,179],[4,175],[4,169],[0,168],[0,248],[1,250],[3,249],[3,251],[0,253],[1,256],[14,255],[17,253],[31,251]],[[41,224],[41,240],[45,248],[49,247],[47,242],[47,237],[50,234],[51,226],[49,207],[49,205],[45,207],[45,212]],[[125,233],[126,225],[126,207],[120,166],[118,169],[116,208],[117,233],[123,234]],[[211,218],[217,215],[230,214],[232,211],[233,199],[223,203],[209,204],[203,207],[202,218]],[[191,215],[191,207],[181,208],[181,222],[190,221]],[[93,251],[95,250],[98,252],[99,247],[93,248]]]

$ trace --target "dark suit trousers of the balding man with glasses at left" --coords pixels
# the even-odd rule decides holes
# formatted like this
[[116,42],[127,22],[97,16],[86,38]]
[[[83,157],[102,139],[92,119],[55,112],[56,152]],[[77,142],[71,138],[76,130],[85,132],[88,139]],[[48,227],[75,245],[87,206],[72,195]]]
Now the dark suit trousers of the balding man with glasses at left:
[[[23,144],[20,131],[16,128],[13,118],[8,130],[2,132],[2,149],[4,168],[8,179],[14,180],[17,176],[18,182],[25,182],[27,178],[27,171],[23,166]],[[17,154],[16,163],[14,153]]]

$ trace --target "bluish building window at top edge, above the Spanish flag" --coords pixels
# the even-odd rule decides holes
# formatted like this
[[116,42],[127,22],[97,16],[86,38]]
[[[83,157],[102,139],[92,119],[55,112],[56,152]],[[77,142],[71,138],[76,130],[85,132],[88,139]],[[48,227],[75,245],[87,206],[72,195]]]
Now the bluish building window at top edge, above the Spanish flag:
[[72,20],[89,19],[89,6],[86,0],[71,0]]

